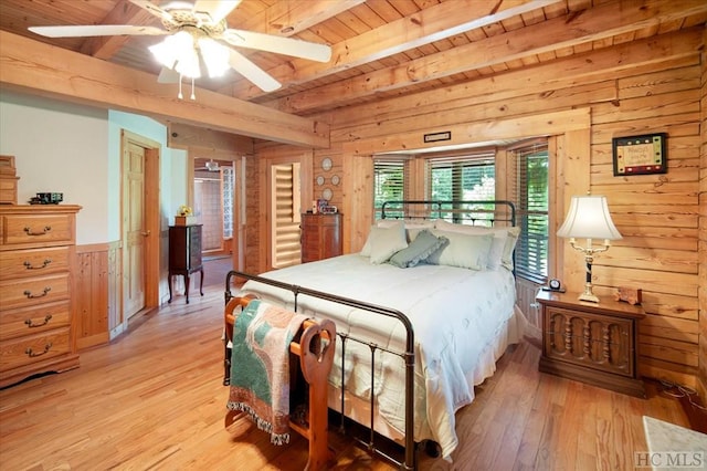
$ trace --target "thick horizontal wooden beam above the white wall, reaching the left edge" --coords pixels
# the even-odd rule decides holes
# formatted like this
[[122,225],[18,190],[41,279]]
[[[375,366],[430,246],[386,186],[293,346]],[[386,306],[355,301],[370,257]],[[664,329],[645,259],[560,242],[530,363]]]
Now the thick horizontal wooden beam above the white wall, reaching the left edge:
[[198,88],[178,100],[176,86],[95,57],[0,31],[0,85],[103,108],[305,147],[329,146],[324,123]]

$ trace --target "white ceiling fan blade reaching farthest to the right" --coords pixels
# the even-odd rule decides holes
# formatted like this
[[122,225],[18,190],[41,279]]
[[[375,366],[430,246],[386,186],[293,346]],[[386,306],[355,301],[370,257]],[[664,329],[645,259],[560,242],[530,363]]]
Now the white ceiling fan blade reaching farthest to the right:
[[282,38],[234,29],[225,30],[221,38],[228,43],[239,48],[268,51],[317,62],[329,62],[331,59],[331,48],[328,45],[293,38]]

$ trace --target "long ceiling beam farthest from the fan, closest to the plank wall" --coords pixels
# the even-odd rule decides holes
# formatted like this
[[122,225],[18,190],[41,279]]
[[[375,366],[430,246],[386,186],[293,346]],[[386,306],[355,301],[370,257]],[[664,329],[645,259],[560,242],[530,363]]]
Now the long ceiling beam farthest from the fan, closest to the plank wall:
[[690,3],[690,8],[678,3],[673,0],[631,0],[603,4],[579,14],[570,12],[542,23],[263,104],[298,114],[323,107],[344,106],[380,91],[399,90],[636,31],[658,24],[662,20],[707,12],[707,2]]

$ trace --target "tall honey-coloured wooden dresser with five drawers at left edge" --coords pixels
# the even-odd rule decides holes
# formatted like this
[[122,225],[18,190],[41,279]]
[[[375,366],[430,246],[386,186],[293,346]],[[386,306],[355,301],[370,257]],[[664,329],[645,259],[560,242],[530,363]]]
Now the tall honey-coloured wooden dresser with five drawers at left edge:
[[0,387],[78,366],[74,205],[0,206]]

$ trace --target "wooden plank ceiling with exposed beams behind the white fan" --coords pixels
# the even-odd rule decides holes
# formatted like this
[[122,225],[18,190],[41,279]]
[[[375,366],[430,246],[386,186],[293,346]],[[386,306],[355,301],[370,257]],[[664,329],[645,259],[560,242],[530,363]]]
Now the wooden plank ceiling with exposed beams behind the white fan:
[[[167,8],[168,1],[152,0]],[[231,71],[197,86],[312,116],[473,81],[704,24],[704,0],[242,0],[230,28],[329,44],[329,63],[240,50],[283,83],[264,93]],[[0,29],[148,72],[161,36],[48,39],[28,27],[159,20],[127,0],[2,0]],[[2,48],[2,44],[0,44]],[[168,85],[165,85],[168,86]]]

